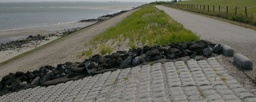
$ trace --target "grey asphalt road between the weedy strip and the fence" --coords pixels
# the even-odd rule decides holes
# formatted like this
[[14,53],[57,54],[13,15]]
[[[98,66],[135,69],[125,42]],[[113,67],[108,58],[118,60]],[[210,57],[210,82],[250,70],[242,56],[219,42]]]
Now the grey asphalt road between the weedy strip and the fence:
[[[170,17],[183,24],[186,29],[191,30],[201,39],[213,43],[222,43],[232,47],[235,53],[241,53],[254,62],[253,70],[242,70],[251,79],[255,79],[256,67],[256,31],[227,22],[211,19],[205,16],[176,10],[170,7],[158,5]],[[232,61],[232,59],[230,59]]]

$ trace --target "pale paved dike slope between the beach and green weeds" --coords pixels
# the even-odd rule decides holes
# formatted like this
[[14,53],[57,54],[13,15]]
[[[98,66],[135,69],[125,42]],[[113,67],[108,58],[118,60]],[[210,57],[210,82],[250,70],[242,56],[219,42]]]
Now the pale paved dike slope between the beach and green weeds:
[[[101,32],[104,32],[111,26],[115,26],[118,22],[136,10],[131,10],[114,16],[110,19],[79,30],[78,32],[75,32],[66,38],[49,44],[43,48],[37,49],[36,51],[27,55],[9,61],[5,64],[1,64],[0,79],[2,80],[2,77],[8,75],[9,73],[15,73],[17,71],[33,71],[44,65],[56,66],[57,64],[65,63],[68,61],[83,61],[86,56],[83,56],[83,58],[77,58],[76,54],[82,52],[83,50],[87,50],[89,47],[92,47],[84,46],[85,42],[88,42],[92,37],[100,34]],[[128,50],[128,46],[126,44],[127,42],[127,40],[124,41],[121,46],[117,46],[116,42],[112,43],[111,41],[107,42],[107,44],[110,44],[111,47],[114,48],[113,52],[115,52],[117,50]],[[94,49],[94,52],[97,53],[97,50]]]

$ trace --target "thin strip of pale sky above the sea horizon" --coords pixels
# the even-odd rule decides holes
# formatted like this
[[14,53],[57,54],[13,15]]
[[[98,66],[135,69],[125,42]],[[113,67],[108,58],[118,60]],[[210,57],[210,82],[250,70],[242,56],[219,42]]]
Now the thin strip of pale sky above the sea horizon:
[[[0,0],[0,2],[41,2],[41,1],[132,1],[132,2],[152,2],[156,0]],[[157,1],[171,1],[171,0],[157,0]]]

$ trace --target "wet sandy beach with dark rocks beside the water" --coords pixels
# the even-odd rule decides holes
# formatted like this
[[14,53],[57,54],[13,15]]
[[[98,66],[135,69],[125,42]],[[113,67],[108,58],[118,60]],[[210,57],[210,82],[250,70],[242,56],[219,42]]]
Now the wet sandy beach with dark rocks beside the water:
[[[52,25],[52,26],[42,26],[42,27],[34,27],[34,28],[26,28],[26,29],[16,29],[16,30],[10,30],[10,31],[2,31],[0,32],[0,43],[6,43],[9,41],[15,41],[15,40],[21,40],[24,38],[27,38],[28,36],[32,35],[35,36],[37,34],[40,35],[46,35],[56,32],[64,32],[64,29],[72,29],[72,28],[83,28],[85,26],[89,26],[93,24],[94,22],[76,22],[76,23],[67,23],[67,24],[59,24],[59,25]],[[31,44],[27,44],[27,46],[22,49],[15,49],[15,50],[6,50],[6,51],[0,51],[0,63],[3,61],[6,61],[12,57],[15,57],[17,55],[20,55],[24,52],[27,52],[31,49],[34,49],[36,47],[42,46],[44,44],[47,44],[59,37],[50,37],[47,41],[40,41],[37,42],[37,46],[32,46]]]

